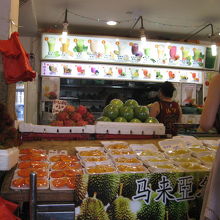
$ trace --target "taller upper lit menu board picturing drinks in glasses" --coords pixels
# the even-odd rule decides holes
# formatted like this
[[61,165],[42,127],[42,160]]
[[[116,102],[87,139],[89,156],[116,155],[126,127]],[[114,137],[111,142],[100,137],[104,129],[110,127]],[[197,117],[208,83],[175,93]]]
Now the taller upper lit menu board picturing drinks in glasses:
[[68,35],[42,35],[42,59],[132,63],[190,68],[205,67],[206,47],[201,45]]

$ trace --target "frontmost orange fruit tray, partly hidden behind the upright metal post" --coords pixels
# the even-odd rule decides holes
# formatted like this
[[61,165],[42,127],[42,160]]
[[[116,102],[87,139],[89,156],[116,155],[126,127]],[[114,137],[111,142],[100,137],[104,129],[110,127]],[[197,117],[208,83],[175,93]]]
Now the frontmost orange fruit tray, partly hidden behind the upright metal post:
[[[13,190],[28,190],[30,189],[29,177],[23,178],[14,176],[10,188]],[[48,178],[38,178],[37,177],[37,189],[45,190],[49,189],[49,180]]]

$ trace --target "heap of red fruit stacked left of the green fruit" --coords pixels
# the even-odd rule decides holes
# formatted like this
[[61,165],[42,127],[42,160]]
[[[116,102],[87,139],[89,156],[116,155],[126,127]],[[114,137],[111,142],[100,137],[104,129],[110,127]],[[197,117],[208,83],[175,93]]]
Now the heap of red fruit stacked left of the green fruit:
[[79,105],[78,107],[67,105],[63,111],[56,115],[56,120],[52,121],[52,126],[85,126],[92,125],[95,117],[88,109]]

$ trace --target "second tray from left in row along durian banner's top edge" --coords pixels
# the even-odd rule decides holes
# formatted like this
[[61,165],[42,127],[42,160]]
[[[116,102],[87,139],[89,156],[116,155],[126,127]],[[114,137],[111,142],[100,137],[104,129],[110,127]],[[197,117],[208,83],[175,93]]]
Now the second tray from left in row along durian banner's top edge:
[[116,164],[119,173],[149,173],[144,165]]

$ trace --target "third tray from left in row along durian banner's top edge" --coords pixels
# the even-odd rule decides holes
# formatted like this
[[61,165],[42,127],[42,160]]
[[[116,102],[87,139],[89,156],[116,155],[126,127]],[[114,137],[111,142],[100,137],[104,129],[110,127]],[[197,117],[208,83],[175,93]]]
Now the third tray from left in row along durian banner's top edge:
[[173,164],[161,163],[154,166],[148,167],[151,173],[175,173],[183,172],[183,169]]

